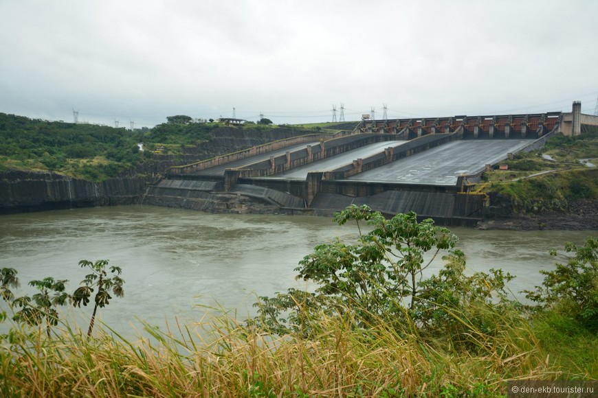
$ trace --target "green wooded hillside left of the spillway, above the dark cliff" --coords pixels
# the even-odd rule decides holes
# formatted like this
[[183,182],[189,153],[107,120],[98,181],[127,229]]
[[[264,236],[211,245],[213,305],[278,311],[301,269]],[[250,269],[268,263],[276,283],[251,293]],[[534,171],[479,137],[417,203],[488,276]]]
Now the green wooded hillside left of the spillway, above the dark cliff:
[[[179,161],[184,163],[183,154],[210,157],[321,130],[274,126],[268,119],[258,124],[226,126],[181,117],[168,117],[166,123],[154,128],[128,130],[0,113],[0,172],[49,171],[100,181],[118,176],[127,169],[147,169],[142,166],[166,158],[179,156]],[[245,141],[237,140],[239,142],[234,145],[230,137],[243,137]],[[143,151],[139,143],[144,143]],[[244,146],[239,148],[239,145]]]

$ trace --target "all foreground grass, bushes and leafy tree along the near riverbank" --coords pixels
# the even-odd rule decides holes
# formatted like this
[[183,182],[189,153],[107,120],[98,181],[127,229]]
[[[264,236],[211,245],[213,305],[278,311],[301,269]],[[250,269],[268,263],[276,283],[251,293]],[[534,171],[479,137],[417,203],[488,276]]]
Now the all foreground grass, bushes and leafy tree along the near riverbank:
[[[359,239],[300,262],[315,290],[262,297],[246,322],[146,325],[135,342],[15,324],[1,342],[0,394],[485,397],[507,380],[598,377],[598,238],[555,250],[562,262],[526,307],[507,297],[511,275],[466,274],[457,237],[432,220],[349,207],[335,221],[354,222]],[[423,278],[436,255],[444,268]]]

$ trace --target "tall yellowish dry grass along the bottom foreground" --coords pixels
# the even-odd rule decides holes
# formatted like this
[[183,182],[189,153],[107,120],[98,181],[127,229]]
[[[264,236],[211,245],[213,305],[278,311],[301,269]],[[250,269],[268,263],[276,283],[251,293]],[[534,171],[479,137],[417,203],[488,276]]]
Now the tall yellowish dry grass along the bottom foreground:
[[[488,311],[492,311],[488,307]],[[356,327],[351,312],[310,320],[311,334],[276,337],[218,316],[129,341],[117,333],[88,339],[63,325],[52,338],[16,331],[0,351],[3,397],[395,397],[494,396],[507,379],[551,379],[530,324],[489,314],[504,329],[480,331],[463,314],[458,348],[448,336],[422,337],[414,325],[378,319]],[[501,317],[503,317],[501,319]],[[513,321],[515,320],[515,321]],[[313,325],[318,325],[313,329]]]

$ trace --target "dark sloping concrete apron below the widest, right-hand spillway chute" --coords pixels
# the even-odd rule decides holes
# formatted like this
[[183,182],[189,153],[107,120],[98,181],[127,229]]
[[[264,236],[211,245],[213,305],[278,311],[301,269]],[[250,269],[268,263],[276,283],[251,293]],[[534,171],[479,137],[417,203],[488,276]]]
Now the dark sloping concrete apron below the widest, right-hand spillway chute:
[[384,191],[381,194],[352,198],[320,193],[311,202],[312,209],[326,213],[340,211],[351,204],[366,204],[388,215],[414,211],[419,218],[432,218],[443,224],[475,224],[482,219],[482,196],[424,191]]

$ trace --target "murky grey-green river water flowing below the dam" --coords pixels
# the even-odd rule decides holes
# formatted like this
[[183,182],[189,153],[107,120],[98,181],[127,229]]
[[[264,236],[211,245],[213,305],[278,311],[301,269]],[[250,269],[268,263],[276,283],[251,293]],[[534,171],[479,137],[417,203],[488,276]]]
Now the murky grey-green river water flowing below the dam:
[[[541,283],[538,270],[553,267],[550,248],[582,243],[596,231],[476,231],[452,229],[467,256],[468,272],[502,268],[517,278],[514,296]],[[331,218],[298,215],[229,215],[151,206],[98,207],[0,216],[0,267],[27,281],[69,279],[74,290],[85,274],[81,259],[109,259],[120,266],[125,295],[99,310],[113,329],[133,336],[137,318],[163,327],[175,318],[190,324],[207,307],[230,309],[238,318],[254,314],[256,296],[268,296],[295,281],[294,268],[314,246],[334,237],[355,239],[355,226]],[[441,267],[436,261],[430,272]],[[5,304],[1,303],[5,309]],[[69,309],[89,318],[91,308]],[[135,332],[136,333],[136,332]]]

